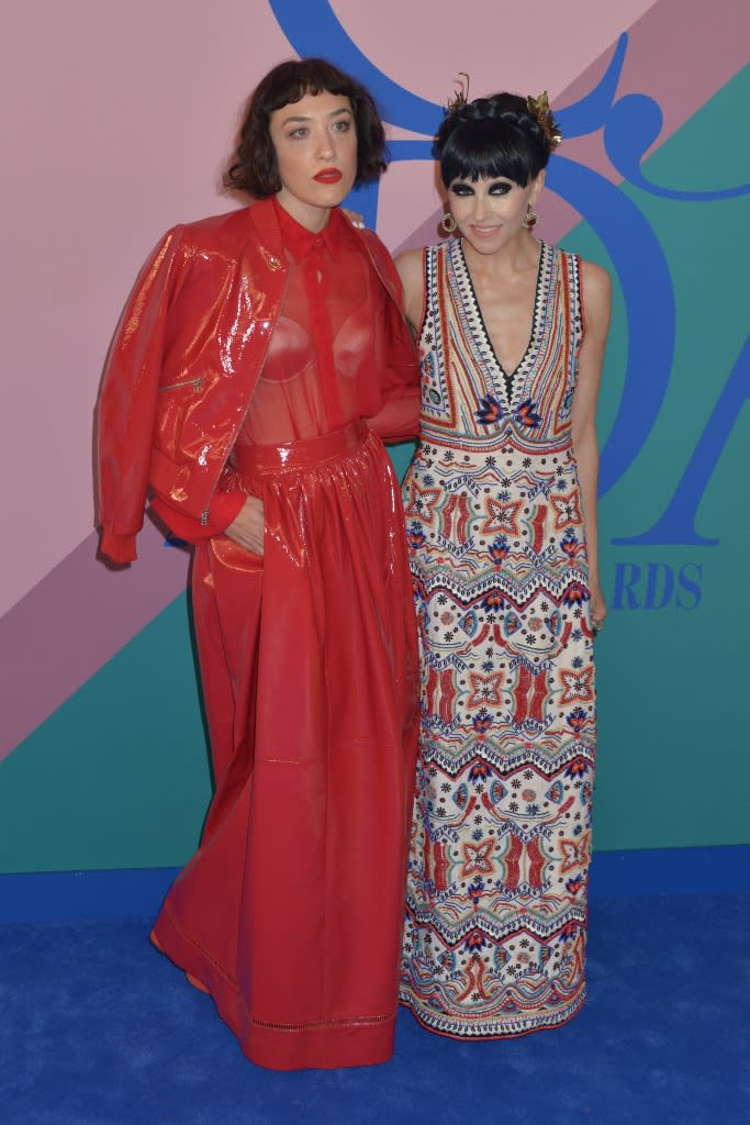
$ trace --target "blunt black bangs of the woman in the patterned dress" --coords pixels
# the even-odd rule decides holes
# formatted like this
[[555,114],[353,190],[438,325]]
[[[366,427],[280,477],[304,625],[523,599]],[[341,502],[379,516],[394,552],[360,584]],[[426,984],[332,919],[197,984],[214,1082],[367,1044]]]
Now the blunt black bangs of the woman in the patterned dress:
[[451,133],[440,159],[443,183],[499,177],[525,188],[541,168],[519,129],[499,120],[464,122]]

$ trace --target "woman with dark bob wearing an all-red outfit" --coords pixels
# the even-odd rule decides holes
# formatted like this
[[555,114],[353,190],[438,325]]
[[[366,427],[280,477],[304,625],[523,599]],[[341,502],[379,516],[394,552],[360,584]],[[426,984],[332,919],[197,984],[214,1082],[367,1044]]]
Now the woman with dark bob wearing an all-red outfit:
[[195,544],[215,792],[152,939],[279,1070],[394,1044],[418,673],[382,440],[416,435],[418,367],[338,206],[383,168],[358,82],[272,70],[227,173],[255,201],[162,238],[99,404],[102,552],[135,559],[147,496]]

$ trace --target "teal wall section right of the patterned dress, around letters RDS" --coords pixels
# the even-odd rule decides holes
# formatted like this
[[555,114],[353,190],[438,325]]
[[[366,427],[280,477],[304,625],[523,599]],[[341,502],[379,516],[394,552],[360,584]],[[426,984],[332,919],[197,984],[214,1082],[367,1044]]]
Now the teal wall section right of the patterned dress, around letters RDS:
[[[750,98],[737,75],[643,165],[650,180],[712,190],[750,179],[734,107]],[[750,756],[744,736],[750,555],[750,410],[699,465],[707,478],[687,510],[713,546],[613,540],[652,528],[672,500],[748,333],[748,196],[713,201],[657,198],[626,186],[654,231],[675,289],[676,346],[669,387],[641,453],[600,504],[602,576],[611,613],[597,641],[599,758],[595,846],[600,849],[747,844]],[[566,246],[612,269],[584,224]],[[632,263],[648,285],[648,262]],[[615,294],[603,380],[606,439],[623,387],[625,309]],[[746,371],[746,396],[750,390]],[[640,577],[630,583],[635,575]],[[652,582],[649,590],[649,582]],[[671,586],[671,593],[669,587]]]

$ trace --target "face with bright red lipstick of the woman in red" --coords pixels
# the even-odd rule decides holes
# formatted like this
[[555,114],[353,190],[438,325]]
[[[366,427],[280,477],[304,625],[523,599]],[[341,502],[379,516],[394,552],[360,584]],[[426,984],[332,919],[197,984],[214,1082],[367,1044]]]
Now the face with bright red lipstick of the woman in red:
[[284,210],[304,226],[325,226],[356,178],[356,128],[349,98],[306,93],[271,114]]

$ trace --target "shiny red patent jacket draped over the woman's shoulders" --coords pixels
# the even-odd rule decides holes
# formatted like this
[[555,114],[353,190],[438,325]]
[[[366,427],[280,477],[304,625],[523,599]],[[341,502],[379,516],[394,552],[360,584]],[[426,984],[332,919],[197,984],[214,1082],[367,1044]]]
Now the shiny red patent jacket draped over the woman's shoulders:
[[[392,298],[388,366],[416,387],[398,273],[371,231],[358,234]],[[263,364],[286,272],[270,199],[173,227],[141,271],[99,399],[101,550],[114,561],[136,558],[150,488],[171,508],[206,520]]]

